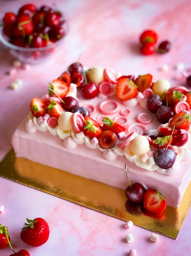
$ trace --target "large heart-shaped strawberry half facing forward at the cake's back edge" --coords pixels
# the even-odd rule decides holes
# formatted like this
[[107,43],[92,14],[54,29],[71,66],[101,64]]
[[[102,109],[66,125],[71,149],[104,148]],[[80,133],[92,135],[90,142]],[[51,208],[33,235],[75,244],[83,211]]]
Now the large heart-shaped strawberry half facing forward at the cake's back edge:
[[128,78],[119,78],[116,87],[116,96],[120,100],[128,100],[137,96],[137,86]]

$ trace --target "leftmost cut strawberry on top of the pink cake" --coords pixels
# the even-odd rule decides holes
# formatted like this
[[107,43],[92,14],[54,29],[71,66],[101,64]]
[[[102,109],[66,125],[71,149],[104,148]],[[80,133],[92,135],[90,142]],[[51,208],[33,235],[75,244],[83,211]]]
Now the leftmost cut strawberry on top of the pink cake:
[[42,99],[33,98],[30,104],[30,110],[33,116],[44,116],[47,112],[46,104]]

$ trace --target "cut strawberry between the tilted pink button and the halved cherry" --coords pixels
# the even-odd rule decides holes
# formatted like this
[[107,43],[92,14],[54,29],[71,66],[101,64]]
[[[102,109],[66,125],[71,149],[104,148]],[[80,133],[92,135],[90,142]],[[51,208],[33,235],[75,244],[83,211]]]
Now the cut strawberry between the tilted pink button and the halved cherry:
[[85,116],[84,123],[83,123],[83,132],[86,136],[89,138],[98,138],[100,134],[102,133],[102,127],[101,125],[93,120],[89,116]]

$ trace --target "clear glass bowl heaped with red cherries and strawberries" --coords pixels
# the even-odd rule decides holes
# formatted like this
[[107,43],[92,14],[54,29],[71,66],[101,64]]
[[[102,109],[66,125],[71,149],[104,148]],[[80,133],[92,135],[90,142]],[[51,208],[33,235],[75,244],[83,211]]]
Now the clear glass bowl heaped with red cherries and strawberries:
[[67,34],[63,14],[48,6],[28,4],[18,14],[7,12],[0,28],[0,41],[10,54],[24,63],[38,64],[58,51]]

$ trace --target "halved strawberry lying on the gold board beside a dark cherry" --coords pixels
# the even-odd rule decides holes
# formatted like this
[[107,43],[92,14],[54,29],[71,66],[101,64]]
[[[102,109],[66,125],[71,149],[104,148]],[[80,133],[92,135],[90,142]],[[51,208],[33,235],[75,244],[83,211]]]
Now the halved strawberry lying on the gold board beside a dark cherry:
[[166,201],[158,190],[148,189],[144,193],[144,208],[149,212],[161,213],[166,208]]

